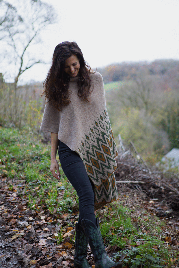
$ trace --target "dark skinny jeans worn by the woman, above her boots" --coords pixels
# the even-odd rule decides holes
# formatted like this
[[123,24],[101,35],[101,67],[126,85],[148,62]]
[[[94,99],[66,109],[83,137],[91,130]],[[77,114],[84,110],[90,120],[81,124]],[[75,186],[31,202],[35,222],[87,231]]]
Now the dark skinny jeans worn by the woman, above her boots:
[[79,224],[82,219],[91,220],[96,225],[94,214],[94,184],[89,179],[80,156],[59,141],[58,155],[61,167],[79,197]]

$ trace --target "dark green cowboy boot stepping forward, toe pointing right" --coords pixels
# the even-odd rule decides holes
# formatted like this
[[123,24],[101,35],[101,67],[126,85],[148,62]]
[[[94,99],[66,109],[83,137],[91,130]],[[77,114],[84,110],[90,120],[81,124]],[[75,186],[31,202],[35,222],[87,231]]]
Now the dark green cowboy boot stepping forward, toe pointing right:
[[82,220],[82,226],[94,256],[95,268],[122,267],[121,262],[115,263],[109,258],[102,241],[98,218],[96,223],[97,226],[91,220]]

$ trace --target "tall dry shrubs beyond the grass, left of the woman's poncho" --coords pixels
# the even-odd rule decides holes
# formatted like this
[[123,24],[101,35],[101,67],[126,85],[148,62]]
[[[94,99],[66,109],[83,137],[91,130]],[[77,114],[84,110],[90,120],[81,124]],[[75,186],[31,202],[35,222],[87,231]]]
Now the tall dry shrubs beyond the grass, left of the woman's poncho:
[[[40,92],[39,92],[40,91]],[[43,101],[35,85],[21,86],[2,83],[0,86],[0,125],[6,127],[39,128],[42,120]]]

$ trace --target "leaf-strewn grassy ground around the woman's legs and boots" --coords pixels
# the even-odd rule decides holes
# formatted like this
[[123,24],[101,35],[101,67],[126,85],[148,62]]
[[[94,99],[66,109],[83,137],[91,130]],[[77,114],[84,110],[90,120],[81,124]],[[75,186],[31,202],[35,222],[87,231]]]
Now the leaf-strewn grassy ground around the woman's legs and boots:
[[[0,140],[0,267],[73,267],[78,200],[62,171],[61,181],[50,174],[48,139],[1,128]],[[119,201],[96,212],[109,256],[126,268],[177,267],[177,215],[140,184],[123,185]],[[94,265],[90,247],[87,260]]]

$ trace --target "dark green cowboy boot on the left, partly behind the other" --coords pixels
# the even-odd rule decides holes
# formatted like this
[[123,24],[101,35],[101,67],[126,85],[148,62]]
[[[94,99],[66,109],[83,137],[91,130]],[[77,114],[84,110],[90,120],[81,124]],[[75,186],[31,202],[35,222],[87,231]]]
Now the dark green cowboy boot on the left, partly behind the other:
[[75,268],[91,268],[87,262],[87,245],[88,241],[84,233],[83,227],[76,222],[76,236],[74,246],[74,267]]

